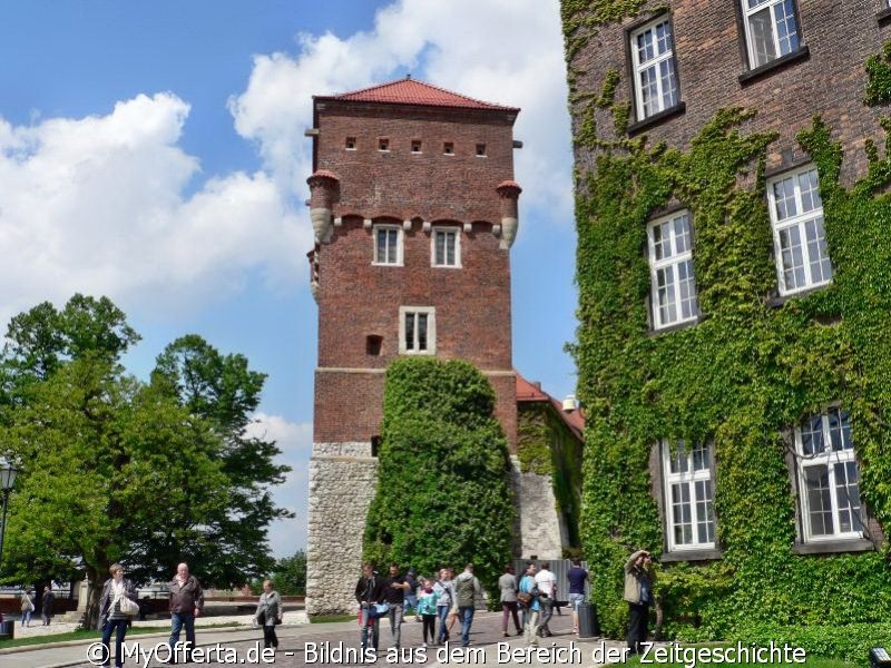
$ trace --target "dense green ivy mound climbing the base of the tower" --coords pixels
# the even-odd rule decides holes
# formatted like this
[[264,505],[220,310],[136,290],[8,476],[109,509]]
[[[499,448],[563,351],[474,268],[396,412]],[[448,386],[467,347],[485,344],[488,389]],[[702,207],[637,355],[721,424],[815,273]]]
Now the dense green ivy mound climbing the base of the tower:
[[428,573],[472,561],[495,591],[515,511],[491,385],[467,362],[399,360],[386,371],[383,403],[365,558]]

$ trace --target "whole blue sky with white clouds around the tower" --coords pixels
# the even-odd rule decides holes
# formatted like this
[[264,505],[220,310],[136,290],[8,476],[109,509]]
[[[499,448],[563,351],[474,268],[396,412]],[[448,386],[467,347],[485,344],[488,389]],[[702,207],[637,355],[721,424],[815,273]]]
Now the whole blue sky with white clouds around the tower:
[[[143,335],[197,333],[268,374],[256,429],[294,468],[276,556],[306,542],[315,303],[312,96],[411,73],[522,111],[513,363],[574,391],[571,143],[558,0],[1,0],[0,322],[75,292]],[[6,325],[3,325],[6,328]]]

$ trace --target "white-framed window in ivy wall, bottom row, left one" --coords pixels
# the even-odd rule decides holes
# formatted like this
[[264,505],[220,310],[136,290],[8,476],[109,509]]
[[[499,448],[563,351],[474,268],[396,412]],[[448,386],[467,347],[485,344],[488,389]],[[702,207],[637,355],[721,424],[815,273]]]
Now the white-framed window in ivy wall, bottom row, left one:
[[715,547],[715,490],[707,443],[662,442],[668,551]]

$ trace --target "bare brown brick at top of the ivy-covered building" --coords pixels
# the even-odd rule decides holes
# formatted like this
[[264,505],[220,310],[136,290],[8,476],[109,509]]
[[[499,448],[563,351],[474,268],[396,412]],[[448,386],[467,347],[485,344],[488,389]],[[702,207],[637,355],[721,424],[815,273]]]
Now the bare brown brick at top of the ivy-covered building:
[[[674,29],[679,99],[685,109],[655,124],[643,124],[639,131],[646,132],[650,144],[664,140],[670,146],[687,146],[719,108],[745,107],[757,110],[757,116],[743,131],[780,132],[771,147],[767,168],[782,169],[806,159],[795,135],[820,114],[844,147],[844,183],[850,185],[865,173],[863,139],[881,134],[877,120],[884,110],[862,104],[863,65],[891,38],[891,24],[879,20],[884,2],[794,2],[803,48],[791,61],[764,68],[760,76],[752,76],[748,66],[738,0],[653,1],[647,7],[650,10],[623,24],[596,28],[597,36],[570,62],[574,71],[581,72],[577,75],[579,90],[600,90],[605,72],[617,68],[623,76],[616,101],[631,100],[628,30],[663,12],[670,17]],[[630,118],[634,126],[634,105]],[[597,120],[603,136],[615,138],[609,111],[598,110]],[[576,132],[578,122],[576,117]],[[577,159],[586,161],[587,157],[579,155]]]

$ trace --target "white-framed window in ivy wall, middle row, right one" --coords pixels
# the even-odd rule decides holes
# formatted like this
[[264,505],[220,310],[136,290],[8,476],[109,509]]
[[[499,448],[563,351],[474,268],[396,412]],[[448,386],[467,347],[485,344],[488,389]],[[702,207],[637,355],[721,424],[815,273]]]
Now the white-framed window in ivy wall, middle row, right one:
[[767,181],[780,294],[832,281],[816,168],[807,166]]

